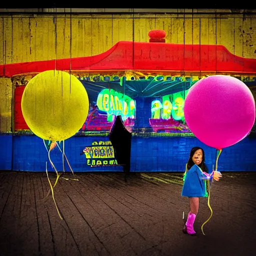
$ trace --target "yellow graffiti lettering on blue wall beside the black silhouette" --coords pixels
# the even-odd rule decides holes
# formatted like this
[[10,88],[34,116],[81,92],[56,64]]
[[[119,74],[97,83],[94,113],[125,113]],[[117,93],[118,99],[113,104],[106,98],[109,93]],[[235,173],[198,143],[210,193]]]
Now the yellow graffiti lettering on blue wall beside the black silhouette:
[[87,165],[117,165],[111,141],[93,141],[90,146],[85,146],[82,153],[87,159]]

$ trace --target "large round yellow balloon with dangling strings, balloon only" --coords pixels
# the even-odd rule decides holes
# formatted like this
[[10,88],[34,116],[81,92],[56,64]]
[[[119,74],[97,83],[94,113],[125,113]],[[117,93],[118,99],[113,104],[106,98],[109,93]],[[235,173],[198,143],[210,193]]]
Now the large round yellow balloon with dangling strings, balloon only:
[[89,99],[82,83],[64,71],[35,75],[25,86],[21,110],[30,130],[42,139],[60,141],[83,125]]

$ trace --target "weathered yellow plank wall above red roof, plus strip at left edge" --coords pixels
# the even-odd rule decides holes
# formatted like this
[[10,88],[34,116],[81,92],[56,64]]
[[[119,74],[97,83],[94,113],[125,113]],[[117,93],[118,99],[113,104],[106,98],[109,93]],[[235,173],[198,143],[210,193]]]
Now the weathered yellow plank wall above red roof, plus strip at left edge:
[[[0,64],[99,54],[119,40],[149,40],[164,29],[167,43],[222,44],[256,58],[256,14],[10,14],[0,16]],[[11,130],[10,79],[0,78],[0,131]]]

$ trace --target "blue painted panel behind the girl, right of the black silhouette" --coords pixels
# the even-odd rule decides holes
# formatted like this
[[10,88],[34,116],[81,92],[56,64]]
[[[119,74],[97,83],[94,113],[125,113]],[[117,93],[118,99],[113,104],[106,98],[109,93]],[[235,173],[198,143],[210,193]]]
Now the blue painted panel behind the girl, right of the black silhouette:
[[[184,171],[190,149],[200,146],[209,170],[215,163],[216,150],[196,137],[138,137],[131,140],[131,170]],[[256,170],[256,138],[246,137],[224,148],[218,159],[220,171]]]

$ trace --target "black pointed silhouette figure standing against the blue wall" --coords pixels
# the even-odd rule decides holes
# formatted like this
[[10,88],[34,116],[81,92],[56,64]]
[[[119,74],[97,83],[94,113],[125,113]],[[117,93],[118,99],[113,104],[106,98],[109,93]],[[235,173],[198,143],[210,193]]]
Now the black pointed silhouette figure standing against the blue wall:
[[118,165],[123,166],[124,180],[130,171],[131,132],[129,132],[120,115],[117,115],[109,132],[109,140],[114,148],[114,155]]

